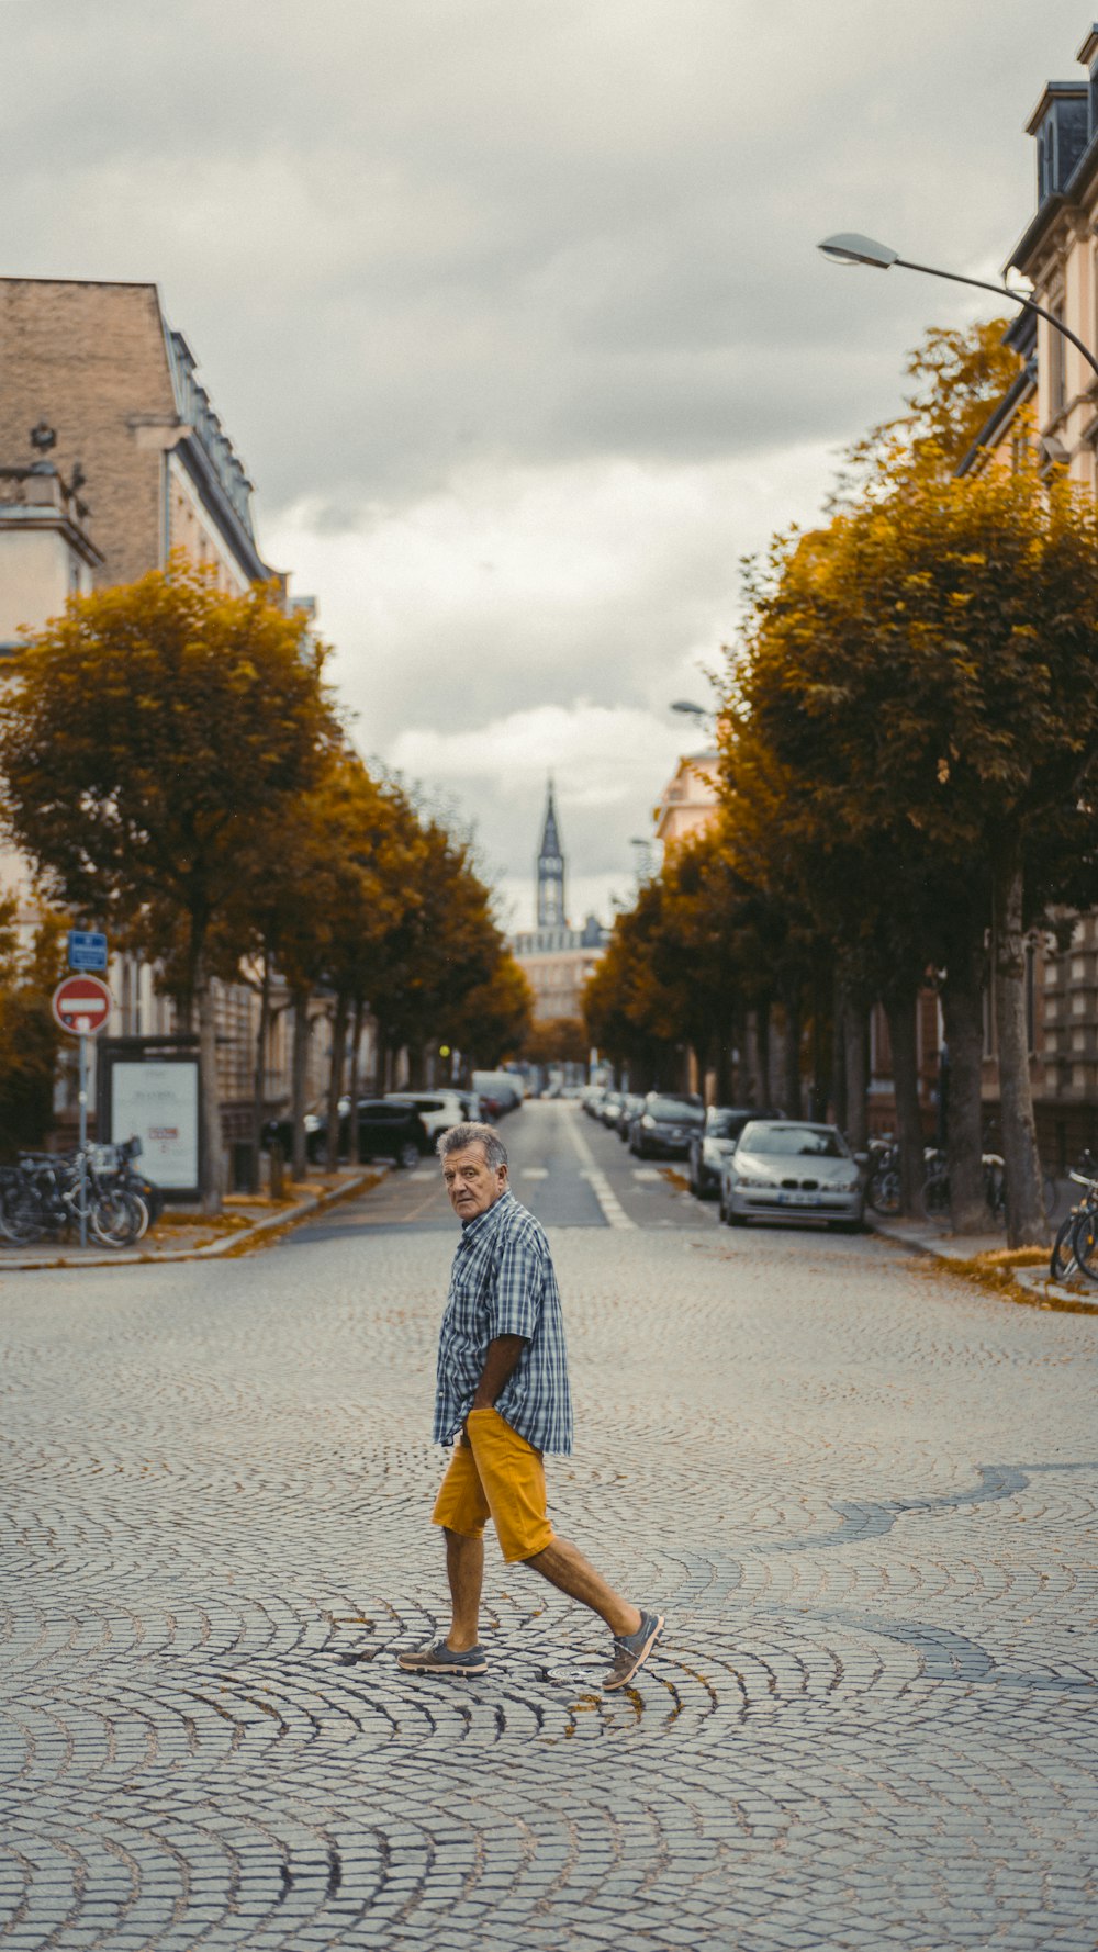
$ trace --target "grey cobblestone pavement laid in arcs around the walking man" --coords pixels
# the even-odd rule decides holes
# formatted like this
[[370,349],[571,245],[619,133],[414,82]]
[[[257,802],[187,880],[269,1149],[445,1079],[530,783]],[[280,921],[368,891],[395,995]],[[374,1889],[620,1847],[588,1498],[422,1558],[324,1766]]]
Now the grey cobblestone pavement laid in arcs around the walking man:
[[666,1640],[604,1696],[490,1542],[490,1671],[424,1681],[449,1240],[348,1216],[0,1281],[4,1948],[1094,1948],[1090,1320],[561,1228],[555,1519]]

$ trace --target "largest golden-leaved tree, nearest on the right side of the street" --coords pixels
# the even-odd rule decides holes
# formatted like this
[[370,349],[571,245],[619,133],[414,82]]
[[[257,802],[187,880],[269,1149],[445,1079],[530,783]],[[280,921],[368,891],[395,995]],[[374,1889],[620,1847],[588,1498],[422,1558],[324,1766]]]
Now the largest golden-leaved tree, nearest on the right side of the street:
[[[1049,824],[1092,849],[1098,515],[1030,472],[944,480],[780,545],[737,673],[739,722],[787,767],[807,820],[928,878],[926,958],[946,970],[950,1179],[983,1220],[983,962],[996,917],[1002,1142],[1012,1243],[1043,1240],[1024,1015],[1024,859]],[[739,765],[740,755],[729,757]],[[873,904],[877,890],[860,882]]]

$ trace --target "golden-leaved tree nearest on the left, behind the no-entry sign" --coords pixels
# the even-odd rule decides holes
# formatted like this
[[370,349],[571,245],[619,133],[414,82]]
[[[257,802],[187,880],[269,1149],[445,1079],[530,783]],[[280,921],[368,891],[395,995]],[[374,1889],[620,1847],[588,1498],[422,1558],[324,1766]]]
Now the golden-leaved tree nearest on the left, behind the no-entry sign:
[[57,896],[162,964],[184,1021],[197,1015],[207,1210],[221,1202],[213,927],[322,767],[322,664],[272,591],[225,595],[176,556],[72,597],[0,699],[14,839]]

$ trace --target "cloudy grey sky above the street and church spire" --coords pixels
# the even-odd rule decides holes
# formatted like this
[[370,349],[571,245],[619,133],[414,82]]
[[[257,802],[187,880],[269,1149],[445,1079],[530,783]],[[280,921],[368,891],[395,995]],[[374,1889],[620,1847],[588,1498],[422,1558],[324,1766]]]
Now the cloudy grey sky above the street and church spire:
[[[996,275],[1075,0],[0,0],[2,265],[154,279],[365,753],[631,884],[739,558]],[[969,299],[973,303],[969,303]],[[994,301],[989,301],[994,306]],[[2,377],[0,377],[2,385]]]

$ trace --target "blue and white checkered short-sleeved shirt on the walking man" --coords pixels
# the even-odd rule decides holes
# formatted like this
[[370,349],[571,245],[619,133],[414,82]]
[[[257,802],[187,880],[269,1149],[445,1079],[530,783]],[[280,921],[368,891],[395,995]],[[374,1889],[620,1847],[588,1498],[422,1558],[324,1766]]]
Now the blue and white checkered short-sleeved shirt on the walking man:
[[438,1337],[436,1444],[449,1444],[465,1423],[496,1335],[526,1341],[496,1400],[500,1417],[535,1450],[567,1454],[572,1400],[561,1290],[539,1222],[510,1191],[457,1241]]

